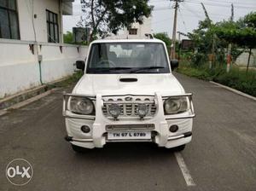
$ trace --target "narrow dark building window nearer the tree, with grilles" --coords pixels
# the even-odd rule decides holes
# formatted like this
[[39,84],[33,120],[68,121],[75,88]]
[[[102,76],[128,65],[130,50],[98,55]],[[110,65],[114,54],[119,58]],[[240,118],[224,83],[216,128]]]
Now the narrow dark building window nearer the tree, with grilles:
[[58,15],[46,10],[47,36],[49,43],[59,43]]

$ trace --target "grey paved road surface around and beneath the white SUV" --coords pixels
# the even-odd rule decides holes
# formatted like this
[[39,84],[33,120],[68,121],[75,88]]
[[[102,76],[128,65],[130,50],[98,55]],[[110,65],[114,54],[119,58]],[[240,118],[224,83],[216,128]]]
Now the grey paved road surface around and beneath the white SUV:
[[[195,94],[193,141],[181,153],[195,186],[185,182],[175,153],[151,144],[74,153],[63,140],[59,91],[0,117],[0,190],[256,190],[256,101],[176,75]],[[5,177],[15,158],[32,163],[26,186]]]

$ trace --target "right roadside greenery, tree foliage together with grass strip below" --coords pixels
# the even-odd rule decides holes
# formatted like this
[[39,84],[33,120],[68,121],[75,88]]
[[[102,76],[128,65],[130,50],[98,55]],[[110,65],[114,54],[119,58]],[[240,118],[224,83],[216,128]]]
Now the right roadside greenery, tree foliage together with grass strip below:
[[[189,38],[195,44],[197,51],[190,56],[190,61],[180,65],[177,72],[195,78],[213,80],[256,96],[256,71],[247,72],[233,66],[230,72],[226,72],[226,65],[224,64],[226,62],[225,49],[229,43],[232,43],[231,56],[233,61],[236,61],[242,52],[256,47],[256,12],[247,14],[236,22],[232,20],[234,16],[234,12],[232,12],[230,20],[223,20],[214,24],[204,6],[203,9],[206,19],[201,20],[198,28],[189,33]],[[213,42],[214,46],[212,46]],[[214,67],[209,69],[208,55],[212,51],[215,55],[214,63],[212,63]]]

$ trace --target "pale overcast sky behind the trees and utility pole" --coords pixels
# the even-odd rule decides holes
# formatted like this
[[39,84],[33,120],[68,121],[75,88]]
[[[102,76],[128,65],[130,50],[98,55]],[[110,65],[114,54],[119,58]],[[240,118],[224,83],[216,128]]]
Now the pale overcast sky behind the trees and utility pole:
[[[179,5],[177,12],[177,31],[192,32],[198,26],[199,20],[204,20],[205,14],[201,7],[201,2],[205,4],[207,12],[213,22],[228,20],[231,14],[231,3],[234,4],[234,17],[240,17],[252,11],[256,11],[256,0],[184,0]],[[172,37],[173,27],[173,1],[170,0],[150,0],[149,5],[154,6],[152,13],[152,33],[167,32]],[[73,15],[63,18],[64,32],[71,31],[79,21],[81,11],[80,0],[73,3]],[[184,38],[184,37],[183,37]]]

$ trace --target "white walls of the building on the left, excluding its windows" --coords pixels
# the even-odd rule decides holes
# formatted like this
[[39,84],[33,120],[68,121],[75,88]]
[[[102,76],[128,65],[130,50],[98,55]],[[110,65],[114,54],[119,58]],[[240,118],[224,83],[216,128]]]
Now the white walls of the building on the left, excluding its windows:
[[[72,2],[65,0],[69,7]],[[60,3],[60,0],[17,0],[20,40],[0,38],[0,99],[41,84],[38,55],[43,57],[43,83],[73,74],[73,63],[84,60],[86,46],[63,44],[63,41],[48,43],[46,9],[58,14],[62,39],[63,5]],[[68,10],[65,9],[65,14],[71,14]]]

